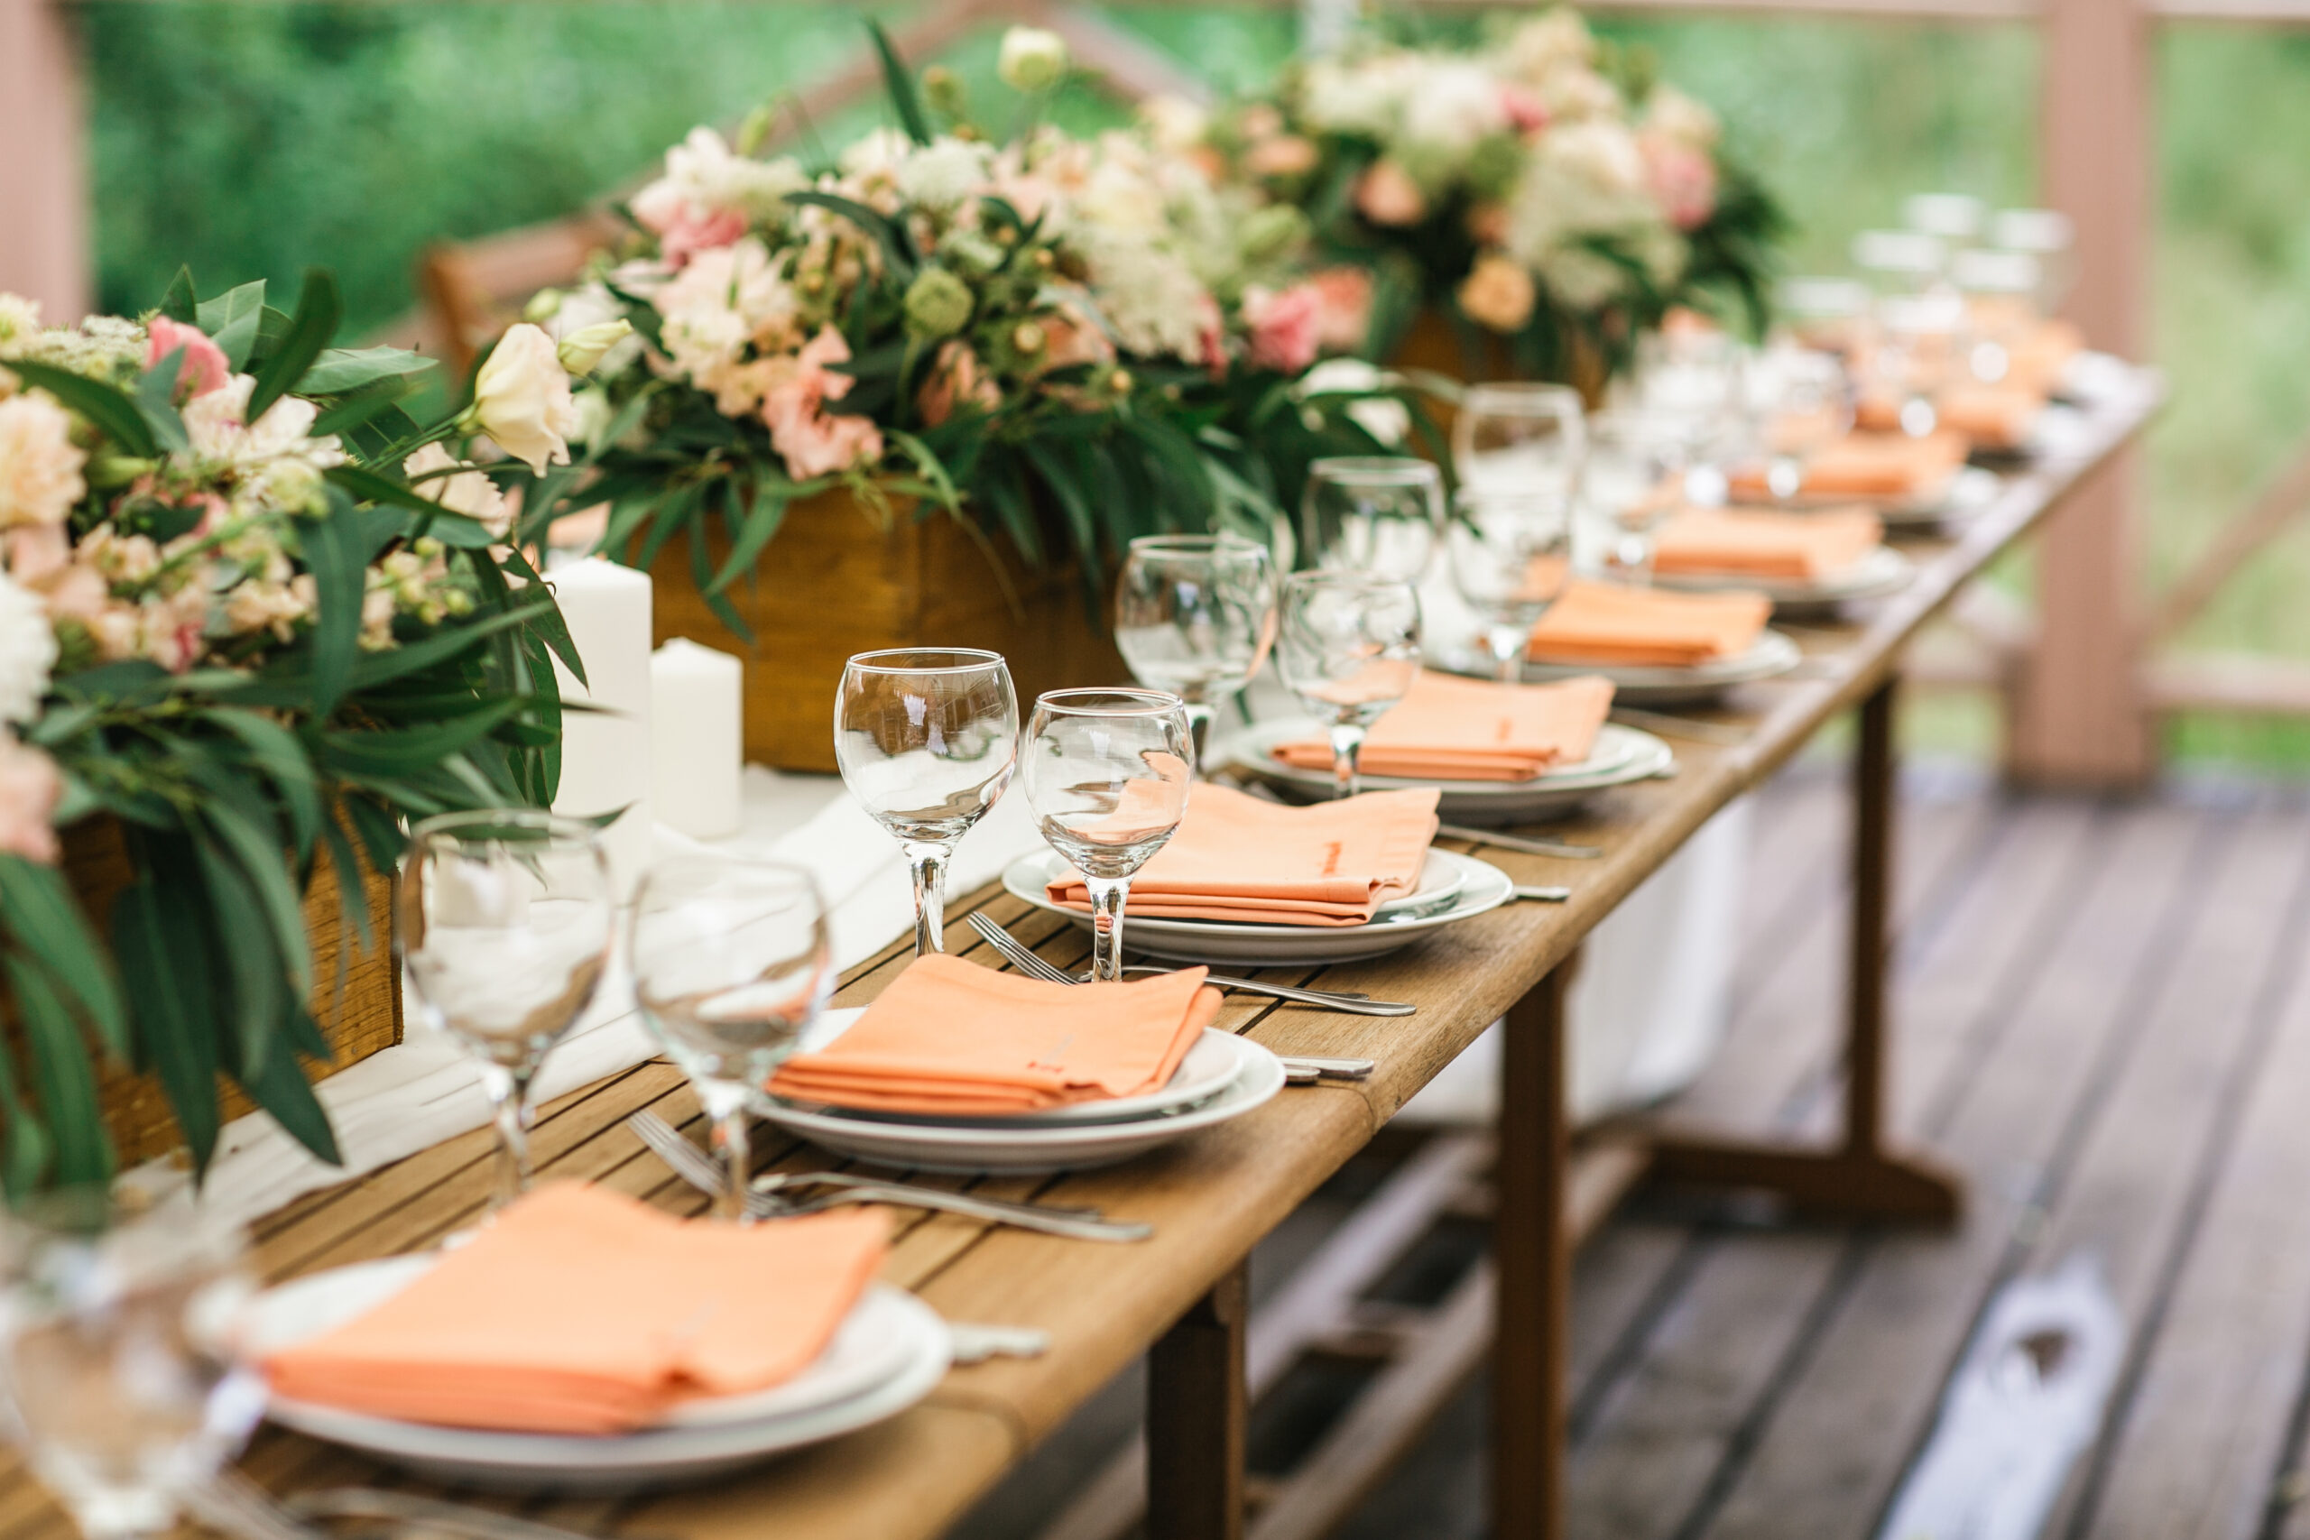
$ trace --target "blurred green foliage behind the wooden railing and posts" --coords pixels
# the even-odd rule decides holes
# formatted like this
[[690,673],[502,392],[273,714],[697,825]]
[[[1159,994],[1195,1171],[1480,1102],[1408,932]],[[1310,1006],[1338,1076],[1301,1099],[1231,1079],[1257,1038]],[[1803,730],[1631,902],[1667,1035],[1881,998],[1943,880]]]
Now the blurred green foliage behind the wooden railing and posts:
[[[178,261],[203,289],[337,270],[353,326],[409,309],[432,238],[480,236],[617,189],[695,122],[822,79],[859,9],[762,0],[635,5],[199,5],[97,0],[90,48],[106,309],[157,302]],[[1289,53],[1289,9],[1116,5],[1106,16],[1220,90]],[[894,14],[903,18],[903,12]],[[1467,30],[1471,18],[1400,23]],[[2026,25],[1605,18],[1707,99],[1797,215],[1797,270],[1920,189],[2030,201],[2037,39]],[[993,37],[952,62],[982,99]],[[1060,115],[1118,118],[1093,92]],[[2151,439],[2144,559],[2169,580],[2310,429],[2310,32],[2169,23],[2158,44],[2155,349],[2174,404]],[[818,125],[841,143],[873,109]],[[2007,582],[2012,575],[2007,575]],[[2231,582],[2190,646],[2310,656],[2310,543]],[[1922,713],[1929,743],[1984,748],[1987,704]],[[2181,720],[2190,760],[2310,764],[2310,725]]]

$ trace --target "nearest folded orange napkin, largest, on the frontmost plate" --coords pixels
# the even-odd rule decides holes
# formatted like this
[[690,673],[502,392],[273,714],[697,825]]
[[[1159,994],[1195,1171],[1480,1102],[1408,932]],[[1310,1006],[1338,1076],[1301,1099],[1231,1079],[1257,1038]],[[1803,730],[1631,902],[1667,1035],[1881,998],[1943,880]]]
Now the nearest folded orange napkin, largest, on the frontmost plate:
[[681,1221],[557,1182],[344,1325],[266,1360],[273,1390],[409,1422],[619,1434],[815,1360],[882,1265],[875,1212]]

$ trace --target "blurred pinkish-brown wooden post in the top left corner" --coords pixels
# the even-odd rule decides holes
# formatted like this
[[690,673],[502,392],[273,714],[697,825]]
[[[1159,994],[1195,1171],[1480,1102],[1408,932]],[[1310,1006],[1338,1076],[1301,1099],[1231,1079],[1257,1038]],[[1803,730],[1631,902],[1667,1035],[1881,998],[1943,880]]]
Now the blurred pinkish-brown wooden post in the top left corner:
[[81,51],[65,7],[0,0],[0,291],[44,319],[88,314]]

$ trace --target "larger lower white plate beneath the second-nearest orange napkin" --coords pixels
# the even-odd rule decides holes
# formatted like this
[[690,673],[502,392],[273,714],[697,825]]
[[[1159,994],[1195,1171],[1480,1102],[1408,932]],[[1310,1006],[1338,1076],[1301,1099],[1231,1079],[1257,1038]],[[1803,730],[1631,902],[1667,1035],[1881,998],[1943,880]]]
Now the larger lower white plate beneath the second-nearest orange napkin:
[[1243,1117],[1284,1087],[1284,1064],[1250,1039],[1243,1044],[1243,1071],[1234,1085],[1201,1106],[1132,1122],[1063,1124],[1021,1129],[1016,1124],[919,1124],[845,1117],[841,1113],[806,1113],[774,1101],[755,1101],[755,1113],[790,1134],[808,1138],[820,1150],[845,1159],[892,1166],[899,1171],[1088,1171],[1113,1166],[1185,1138],[1197,1129]]

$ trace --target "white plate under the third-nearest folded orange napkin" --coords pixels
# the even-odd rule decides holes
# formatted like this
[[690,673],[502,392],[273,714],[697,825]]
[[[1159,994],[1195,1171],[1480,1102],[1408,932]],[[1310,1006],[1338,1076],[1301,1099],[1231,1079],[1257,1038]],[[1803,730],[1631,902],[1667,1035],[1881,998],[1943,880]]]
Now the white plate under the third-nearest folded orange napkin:
[[[1351,963],[1409,947],[1430,930],[1497,910],[1515,896],[1515,882],[1508,880],[1508,873],[1476,857],[1430,850],[1428,864],[1448,864],[1460,873],[1460,887],[1444,910],[1384,912],[1363,926],[1264,926],[1236,919],[1146,919],[1125,905],[1123,949],[1180,963],[1254,963],[1259,967]],[[1058,866],[1056,852],[1019,857],[1003,870],[1003,887],[1037,910],[1063,914],[1090,930],[1090,914],[1060,907],[1044,891]]]

